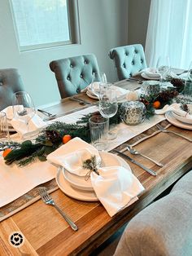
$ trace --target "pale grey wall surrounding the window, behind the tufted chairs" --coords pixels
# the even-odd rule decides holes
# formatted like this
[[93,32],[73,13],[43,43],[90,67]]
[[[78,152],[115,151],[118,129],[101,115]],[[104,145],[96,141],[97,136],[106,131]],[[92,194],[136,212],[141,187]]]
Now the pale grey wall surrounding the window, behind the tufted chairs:
[[41,51],[19,52],[15,39],[9,0],[0,1],[0,68],[18,68],[24,88],[37,105],[60,99],[51,60],[94,53],[109,81],[116,78],[114,64],[108,57],[112,47],[127,44],[129,0],[79,0],[81,45]]

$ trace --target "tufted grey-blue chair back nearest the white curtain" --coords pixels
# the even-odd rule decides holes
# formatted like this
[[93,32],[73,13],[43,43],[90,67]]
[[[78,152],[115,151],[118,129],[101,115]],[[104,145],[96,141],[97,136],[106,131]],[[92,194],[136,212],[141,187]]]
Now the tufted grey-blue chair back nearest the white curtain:
[[133,73],[146,68],[146,58],[140,44],[116,47],[111,49],[109,56],[115,62],[119,80],[129,78]]

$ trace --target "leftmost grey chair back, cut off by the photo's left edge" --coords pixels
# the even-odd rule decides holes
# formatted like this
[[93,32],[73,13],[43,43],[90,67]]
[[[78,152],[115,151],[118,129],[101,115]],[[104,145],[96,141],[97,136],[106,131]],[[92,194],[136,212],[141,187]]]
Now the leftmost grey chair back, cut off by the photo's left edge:
[[0,111],[12,105],[14,93],[20,90],[24,86],[17,69],[0,69]]

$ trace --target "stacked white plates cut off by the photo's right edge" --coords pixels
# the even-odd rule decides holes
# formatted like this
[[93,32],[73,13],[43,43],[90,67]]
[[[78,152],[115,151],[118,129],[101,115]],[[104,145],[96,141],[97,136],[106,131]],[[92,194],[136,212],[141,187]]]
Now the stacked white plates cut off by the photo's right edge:
[[[192,113],[192,104],[188,104],[188,108],[190,108],[190,113]],[[192,130],[192,114],[187,114],[185,117],[182,117],[178,113],[168,111],[168,113],[165,114],[165,117],[174,126]]]

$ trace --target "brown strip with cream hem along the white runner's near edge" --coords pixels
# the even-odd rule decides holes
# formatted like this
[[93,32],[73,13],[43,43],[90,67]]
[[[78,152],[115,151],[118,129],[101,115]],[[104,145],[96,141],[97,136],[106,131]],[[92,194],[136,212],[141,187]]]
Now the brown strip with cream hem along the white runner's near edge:
[[[169,122],[166,120],[161,121],[160,124],[164,126],[164,128],[168,128],[168,126],[171,126]],[[157,135],[159,132],[160,131],[158,130],[158,128],[156,126],[153,126],[150,129],[142,132],[141,134],[133,137],[132,139],[127,140],[125,143],[121,144],[118,147],[118,149],[123,150],[126,144],[135,146],[138,143],[141,143],[142,141]],[[18,213],[20,210],[23,210],[28,205],[32,205],[34,202],[38,201],[40,199],[40,196],[38,194],[39,187],[46,187],[48,192],[54,192],[55,190],[58,189],[55,179],[52,179],[49,182],[38,185],[36,188],[33,188],[29,192],[25,193],[23,196],[20,196],[15,201],[12,201],[7,205],[2,206],[0,208],[0,222],[8,217],[11,217],[11,215]]]

